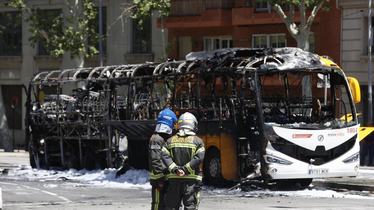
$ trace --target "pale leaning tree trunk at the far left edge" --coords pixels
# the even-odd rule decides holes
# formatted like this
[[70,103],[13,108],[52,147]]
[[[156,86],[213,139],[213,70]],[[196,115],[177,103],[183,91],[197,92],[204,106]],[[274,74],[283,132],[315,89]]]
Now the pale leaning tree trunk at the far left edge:
[[8,122],[5,116],[5,107],[3,101],[3,94],[1,92],[1,85],[0,85],[0,134],[3,140],[3,147],[6,152],[13,152],[13,143],[12,138],[10,138],[10,130],[8,127]]

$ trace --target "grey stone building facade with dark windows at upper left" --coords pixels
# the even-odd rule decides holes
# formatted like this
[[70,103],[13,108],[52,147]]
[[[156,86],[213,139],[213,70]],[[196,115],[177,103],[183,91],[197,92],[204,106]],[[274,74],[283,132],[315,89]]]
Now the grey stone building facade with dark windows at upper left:
[[[0,34],[0,84],[9,128],[15,129],[16,144],[22,145],[25,135],[24,104],[26,102],[22,84],[28,87],[30,78],[40,71],[76,68],[76,62],[71,60],[68,54],[63,55],[62,58],[52,58],[43,49],[42,44],[31,47],[28,40],[31,35],[28,31],[29,23],[24,20],[27,14],[5,6],[5,2],[6,0],[0,0],[0,14],[3,14],[3,16],[0,15],[0,25],[4,26],[3,29],[0,28],[2,32]],[[49,4],[47,0],[29,0],[27,4],[31,8],[56,10],[61,16],[70,13],[64,1],[52,2]],[[120,8],[125,7],[124,3],[131,2],[128,0],[102,1],[103,22],[104,26],[107,26],[104,28],[107,34],[104,43],[104,65],[157,61],[163,55],[161,29],[156,25],[157,12],[152,14],[149,21],[145,21],[142,30],[137,28],[136,21],[131,18],[124,18],[123,22],[117,20],[122,13]],[[95,7],[98,7],[98,1],[95,1]],[[166,37],[167,33],[165,30]],[[98,56],[85,59],[86,67],[98,65]],[[10,103],[14,97],[19,98],[19,103],[15,109],[12,109]],[[0,139],[0,148],[1,146]]]

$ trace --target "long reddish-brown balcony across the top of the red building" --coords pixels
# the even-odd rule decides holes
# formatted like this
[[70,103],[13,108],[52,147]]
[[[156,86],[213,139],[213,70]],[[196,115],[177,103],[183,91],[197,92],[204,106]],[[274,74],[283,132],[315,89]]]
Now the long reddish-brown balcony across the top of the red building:
[[[288,6],[282,6],[288,15]],[[311,10],[306,11],[309,16]],[[320,22],[316,16],[313,22]],[[295,8],[295,22],[300,22]],[[261,0],[172,0],[165,28],[230,27],[283,23],[282,18]],[[157,27],[161,27],[160,19]]]

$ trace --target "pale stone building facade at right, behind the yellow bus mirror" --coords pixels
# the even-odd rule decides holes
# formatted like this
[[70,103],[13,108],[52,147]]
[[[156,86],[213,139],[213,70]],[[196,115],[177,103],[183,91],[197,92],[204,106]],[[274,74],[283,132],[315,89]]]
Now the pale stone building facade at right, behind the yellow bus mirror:
[[[347,76],[355,77],[360,83],[361,102],[356,104],[356,109],[358,113],[363,113],[360,117],[361,123],[366,125],[367,115],[365,113],[368,110],[368,0],[338,0],[337,6],[343,12],[341,18],[341,68]],[[373,4],[371,11],[371,27],[373,28]],[[371,46],[373,46],[373,42]],[[373,47],[371,49],[371,55],[374,56]],[[374,68],[373,66],[372,64],[372,68]],[[372,80],[374,80],[374,75],[372,75]]]

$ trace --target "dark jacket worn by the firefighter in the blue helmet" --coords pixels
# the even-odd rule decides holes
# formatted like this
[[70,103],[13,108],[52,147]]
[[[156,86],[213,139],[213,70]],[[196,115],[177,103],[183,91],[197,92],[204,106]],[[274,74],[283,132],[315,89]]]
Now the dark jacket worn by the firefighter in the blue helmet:
[[169,171],[161,160],[163,144],[164,139],[160,136],[160,133],[155,132],[148,145],[149,179],[152,186],[158,186],[168,180]]

